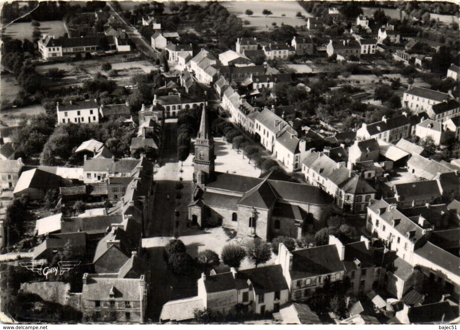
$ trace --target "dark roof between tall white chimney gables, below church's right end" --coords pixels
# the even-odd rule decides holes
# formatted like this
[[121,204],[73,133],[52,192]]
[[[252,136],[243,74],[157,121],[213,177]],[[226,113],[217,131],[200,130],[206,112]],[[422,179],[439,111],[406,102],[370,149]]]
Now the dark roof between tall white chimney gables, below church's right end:
[[291,253],[293,254],[293,266],[289,272],[293,280],[345,270],[335,245],[295,250]]

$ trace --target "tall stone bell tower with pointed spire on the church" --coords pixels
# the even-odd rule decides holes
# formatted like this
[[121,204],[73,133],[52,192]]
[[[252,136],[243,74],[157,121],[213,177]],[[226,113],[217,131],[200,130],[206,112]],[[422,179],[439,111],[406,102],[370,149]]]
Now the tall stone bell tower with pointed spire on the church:
[[193,158],[196,184],[201,188],[214,177],[214,139],[209,128],[206,103],[201,112],[200,129],[196,136],[195,157]]

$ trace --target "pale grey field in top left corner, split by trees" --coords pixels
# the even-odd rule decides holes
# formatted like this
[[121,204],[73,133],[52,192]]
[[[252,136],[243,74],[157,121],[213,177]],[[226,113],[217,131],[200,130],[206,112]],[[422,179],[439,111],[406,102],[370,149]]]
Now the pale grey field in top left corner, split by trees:
[[[66,33],[62,21],[44,21],[40,22],[40,32],[48,35],[54,35],[56,38]],[[2,39],[11,37],[13,39],[29,39],[32,41],[32,32],[34,27],[30,22],[13,23],[5,28],[5,33],[2,34]]]

